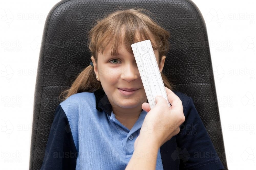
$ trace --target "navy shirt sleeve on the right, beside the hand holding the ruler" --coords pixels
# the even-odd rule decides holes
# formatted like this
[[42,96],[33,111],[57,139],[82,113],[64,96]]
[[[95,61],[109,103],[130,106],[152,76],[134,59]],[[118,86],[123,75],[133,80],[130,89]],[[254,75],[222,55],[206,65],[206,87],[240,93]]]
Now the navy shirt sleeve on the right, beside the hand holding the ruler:
[[176,135],[182,170],[224,169],[191,97],[183,102],[186,120]]

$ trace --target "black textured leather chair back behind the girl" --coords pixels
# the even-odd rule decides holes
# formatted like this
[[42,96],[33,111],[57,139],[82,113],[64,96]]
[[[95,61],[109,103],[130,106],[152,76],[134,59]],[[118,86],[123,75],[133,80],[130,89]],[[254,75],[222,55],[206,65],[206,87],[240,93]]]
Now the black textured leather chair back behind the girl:
[[63,0],[49,12],[38,62],[29,169],[40,169],[59,94],[90,64],[87,32],[95,20],[119,8],[145,8],[171,33],[163,73],[193,98],[227,169],[204,19],[190,0]]

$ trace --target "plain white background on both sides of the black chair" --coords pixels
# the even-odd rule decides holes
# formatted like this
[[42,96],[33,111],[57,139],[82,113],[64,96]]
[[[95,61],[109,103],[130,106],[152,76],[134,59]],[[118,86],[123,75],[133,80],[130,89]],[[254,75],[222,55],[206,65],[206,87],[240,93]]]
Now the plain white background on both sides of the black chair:
[[[228,168],[255,170],[255,1],[193,2],[207,26]],[[40,43],[56,3],[0,2],[1,169],[29,167]]]

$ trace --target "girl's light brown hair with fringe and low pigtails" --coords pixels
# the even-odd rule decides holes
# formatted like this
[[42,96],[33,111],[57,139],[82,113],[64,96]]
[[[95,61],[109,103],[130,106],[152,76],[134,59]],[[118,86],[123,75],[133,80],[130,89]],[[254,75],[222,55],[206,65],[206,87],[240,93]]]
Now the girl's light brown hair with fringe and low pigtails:
[[[147,12],[150,13],[146,9],[141,8],[118,10],[103,19],[97,20],[97,24],[88,32],[88,46],[96,63],[98,52],[102,54],[110,41],[113,42],[112,54],[116,53],[118,45],[121,44],[120,41],[123,41],[126,50],[133,54],[131,44],[144,40],[151,40],[153,49],[158,50],[158,63],[160,63],[161,57],[168,53],[170,33],[146,15],[145,13]],[[124,28],[123,34],[121,33],[121,28]],[[138,36],[135,37],[136,33]],[[173,84],[163,72],[161,76],[164,86],[172,90]],[[96,79],[93,67],[89,65],[78,74],[71,87],[60,94],[60,99],[65,100],[73,94],[94,92],[98,89],[103,88],[100,81]]]

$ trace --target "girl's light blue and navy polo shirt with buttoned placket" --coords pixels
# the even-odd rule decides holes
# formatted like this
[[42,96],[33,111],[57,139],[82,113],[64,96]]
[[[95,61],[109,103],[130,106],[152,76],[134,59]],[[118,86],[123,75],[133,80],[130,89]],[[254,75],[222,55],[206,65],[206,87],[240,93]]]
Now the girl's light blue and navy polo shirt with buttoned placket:
[[[186,120],[158,149],[156,169],[224,169],[192,98],[173,92],[182,100]],[[143,110],[129,130],[115,118],[102,89],[71,95],[56,109],[41,170],[125,169],[146,114]]]

